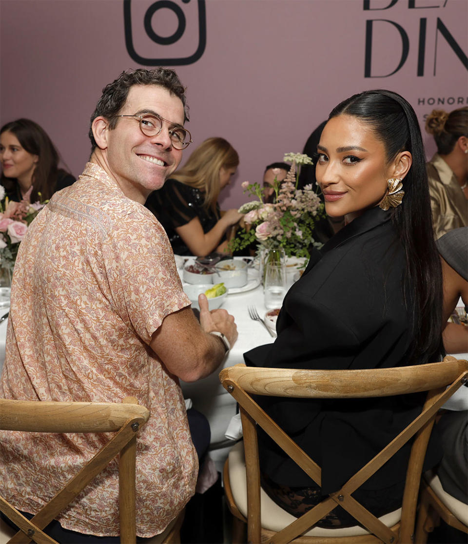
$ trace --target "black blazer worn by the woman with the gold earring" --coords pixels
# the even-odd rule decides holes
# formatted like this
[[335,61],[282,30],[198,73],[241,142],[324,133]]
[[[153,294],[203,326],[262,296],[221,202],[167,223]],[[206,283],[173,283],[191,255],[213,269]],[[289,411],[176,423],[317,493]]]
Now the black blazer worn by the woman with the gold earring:
[[[404,249],[391,212],[372,208],[312,254],[286,294],[273,344],[244,354],[249,366],[310,369],[389,368],[428,362],[408,359],[412,342],[403,298]],[[378,399],[311,400],[258,397],[258,403],[322,467],[322,489],[338,490],[415,414],[425,394]],[[261,469],[281,485],[312,480],[259,432]],[[440,459],[438,443],[427,460]],[[409,445],[363,489],[385,489],[404,479]]]

